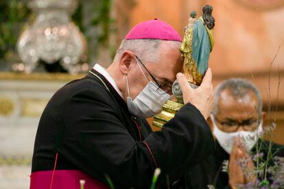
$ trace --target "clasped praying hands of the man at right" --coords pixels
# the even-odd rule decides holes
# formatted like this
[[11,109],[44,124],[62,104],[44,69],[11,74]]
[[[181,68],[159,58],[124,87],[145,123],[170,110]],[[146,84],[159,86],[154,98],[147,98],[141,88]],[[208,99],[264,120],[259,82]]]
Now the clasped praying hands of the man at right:
[[[239,184],[255,181],[255,175],[253,175],[255,166],[248,153],[242,147],[239,147],[239,142],[240,140],[237,140],[234,143],[228,164],[229,184],[233,189],[237,188]],[[247,163],[241,167],[241,161]]]

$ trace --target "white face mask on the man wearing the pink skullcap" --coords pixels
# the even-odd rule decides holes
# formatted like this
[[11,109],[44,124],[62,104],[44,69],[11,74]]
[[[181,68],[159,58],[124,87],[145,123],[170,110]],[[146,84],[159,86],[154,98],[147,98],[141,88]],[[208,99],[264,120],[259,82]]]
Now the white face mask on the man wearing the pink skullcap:
[[[143,73],[138,61],[137,64]],[[148,81],[144,73],[143,75],[148,84],[133,101],[130,97],[128,79],[126,76],[126,85],[128,90],[127,106],[130,114],[140,118],[148,118],[162,110],[162,105],[171,98],[171,95],[165,93],[161,88],[158,88],[158,86],[156,86],[156,84],[152,81]]]

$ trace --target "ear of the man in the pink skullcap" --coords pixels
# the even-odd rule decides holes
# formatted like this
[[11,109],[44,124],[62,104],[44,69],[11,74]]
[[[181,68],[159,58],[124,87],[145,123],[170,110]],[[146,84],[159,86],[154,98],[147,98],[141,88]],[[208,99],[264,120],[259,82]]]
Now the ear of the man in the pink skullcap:
[[131,69],[132,63],[134,62],[134,53],[132,51],[123,51],[119,59],[119,70],[123,75],[127,75]]

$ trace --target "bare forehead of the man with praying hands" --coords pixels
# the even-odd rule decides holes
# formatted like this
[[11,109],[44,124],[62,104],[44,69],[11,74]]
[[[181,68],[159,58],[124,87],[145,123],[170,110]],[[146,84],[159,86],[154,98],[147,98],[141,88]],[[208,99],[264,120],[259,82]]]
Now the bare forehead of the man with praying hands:
[[230,91],[225,89],[220,93],[218,116],[235,119],[256,117],[258,115],[257,105],[257,95],[254,92],[248,91],[242,97],[233,97]]

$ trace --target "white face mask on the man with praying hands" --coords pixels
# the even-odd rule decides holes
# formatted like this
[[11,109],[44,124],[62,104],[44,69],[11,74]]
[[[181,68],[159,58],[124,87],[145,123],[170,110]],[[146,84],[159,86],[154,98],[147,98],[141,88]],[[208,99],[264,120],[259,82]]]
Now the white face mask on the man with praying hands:
[[233,133],[227,133],[221,131],[216,123],[215,118],[211,114],[210,115],[211,121],[213,123],[213,135],[218,140],[220,146],[230,154],[233,150],[233,144],[236,138],[240,137],[244,142],[244,146],[246,147],[247,151],[250,151],[257,143],[257,139],[262,134],[262,122],[259,124],[259,127],[256,131],[236,131]]

